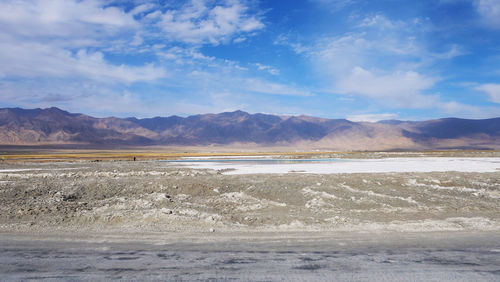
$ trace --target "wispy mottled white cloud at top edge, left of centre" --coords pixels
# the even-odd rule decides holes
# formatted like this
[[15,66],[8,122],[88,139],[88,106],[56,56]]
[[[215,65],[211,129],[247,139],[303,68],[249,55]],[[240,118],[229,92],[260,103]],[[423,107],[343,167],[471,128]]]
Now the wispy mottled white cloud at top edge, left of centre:
[[191,0],[181,9],[157,14],[163,36],[185,43],[217,45],[240,38],[241,33],[264,28],[257,17],[247,14],[248,7],[239,1],[222,1],[213,7],[207,2]]

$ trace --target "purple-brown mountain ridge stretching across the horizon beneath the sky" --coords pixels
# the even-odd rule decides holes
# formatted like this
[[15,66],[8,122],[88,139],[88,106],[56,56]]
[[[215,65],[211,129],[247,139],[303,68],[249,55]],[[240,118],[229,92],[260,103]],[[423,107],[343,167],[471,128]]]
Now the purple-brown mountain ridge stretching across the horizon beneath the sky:
[[500,149],[500,118],[352,122],[243,111],[95,118],[52,107],[0,109],[0,144],[97,147],[251,144],[331,150]]

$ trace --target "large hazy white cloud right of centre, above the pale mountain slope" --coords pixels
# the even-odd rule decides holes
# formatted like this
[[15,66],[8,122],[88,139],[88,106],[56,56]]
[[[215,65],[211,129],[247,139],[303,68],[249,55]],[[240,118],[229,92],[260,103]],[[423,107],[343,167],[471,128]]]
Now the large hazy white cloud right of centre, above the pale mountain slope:
[[[419,21],[394,22],[382,15],[361,19],[357,32],[323,39],[309,51],[332,92],[369,97],[393,107],[431,107],[438,97],[425,94],[439,80],[419,71],[429,58],[412,30]],[[450,57],[457,51],[450,50]]]

